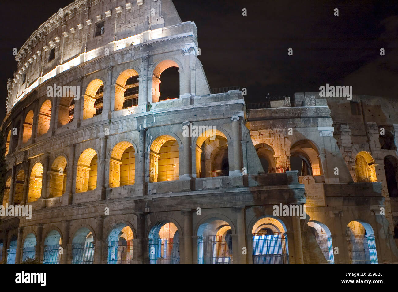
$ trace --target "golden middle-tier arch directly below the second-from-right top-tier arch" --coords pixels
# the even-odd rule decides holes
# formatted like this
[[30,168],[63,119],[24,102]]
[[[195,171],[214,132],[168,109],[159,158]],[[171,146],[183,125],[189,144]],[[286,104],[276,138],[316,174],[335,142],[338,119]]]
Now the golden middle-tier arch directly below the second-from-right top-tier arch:
[[109,160],[109,187],[134,185],[135,150],[133,144],[123,141],[113,147]]

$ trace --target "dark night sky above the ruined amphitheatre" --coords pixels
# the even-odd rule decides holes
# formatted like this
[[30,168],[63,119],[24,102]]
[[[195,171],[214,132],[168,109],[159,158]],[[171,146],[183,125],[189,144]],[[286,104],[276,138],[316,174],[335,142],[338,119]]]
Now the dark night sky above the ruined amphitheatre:
[[[12,49],[19,50],[39,25],[70,2],[2,0],[2,105],[7,79],[17,66]],[[396,0],[174,0],[174,5],[182,21],[196,23],[199,58],[211,88],[245,87],[246,102],[261,102],[267,93],[319,91],[326,83],[353,86],[354,94],[397,97]],[[242,16],[243,8],[247,16]],[[293,56],[288,56],[289,48]],[[4,115],[1,106],[0,118]]]

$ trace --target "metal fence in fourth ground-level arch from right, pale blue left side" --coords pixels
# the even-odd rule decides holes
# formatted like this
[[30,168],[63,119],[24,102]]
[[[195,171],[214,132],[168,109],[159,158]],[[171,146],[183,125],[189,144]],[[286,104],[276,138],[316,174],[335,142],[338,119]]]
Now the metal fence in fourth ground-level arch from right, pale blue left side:
[[198,236],[199,265],[232,265],[232,236]]

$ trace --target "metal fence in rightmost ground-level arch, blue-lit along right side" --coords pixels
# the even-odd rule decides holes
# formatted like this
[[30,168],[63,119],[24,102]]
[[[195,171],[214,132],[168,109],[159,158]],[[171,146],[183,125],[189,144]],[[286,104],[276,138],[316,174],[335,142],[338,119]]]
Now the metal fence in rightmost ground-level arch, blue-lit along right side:
[[374,235],[347,235],[351,265],[378,265]]

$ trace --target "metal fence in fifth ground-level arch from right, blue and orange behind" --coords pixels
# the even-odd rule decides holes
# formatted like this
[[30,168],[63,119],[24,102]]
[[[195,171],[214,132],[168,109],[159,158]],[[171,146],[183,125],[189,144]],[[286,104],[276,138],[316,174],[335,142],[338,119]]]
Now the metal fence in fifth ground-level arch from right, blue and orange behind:
[[149,239],[150,265],[179,265],[179,241],[173,238]]

